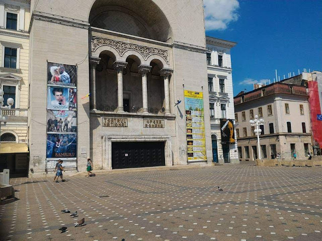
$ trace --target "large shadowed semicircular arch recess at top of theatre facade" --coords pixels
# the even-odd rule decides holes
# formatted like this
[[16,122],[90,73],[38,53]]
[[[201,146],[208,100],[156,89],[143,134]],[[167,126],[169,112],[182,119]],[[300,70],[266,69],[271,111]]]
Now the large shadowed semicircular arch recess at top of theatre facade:
[[89,23],[92,27],[123,34],[172,42],[165,14],[151,0],[96,0]]

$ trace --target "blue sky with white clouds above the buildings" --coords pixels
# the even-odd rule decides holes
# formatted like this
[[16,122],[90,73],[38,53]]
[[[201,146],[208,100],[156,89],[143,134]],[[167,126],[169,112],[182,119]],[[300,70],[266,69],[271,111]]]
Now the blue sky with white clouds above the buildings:
[[[231,49],[234,95],[303,68],[322,71],[322,1],[204,0],[206,35]],[[224,14],[223,14],[224,13]],[[267,81],[268,82],[268,81]]]

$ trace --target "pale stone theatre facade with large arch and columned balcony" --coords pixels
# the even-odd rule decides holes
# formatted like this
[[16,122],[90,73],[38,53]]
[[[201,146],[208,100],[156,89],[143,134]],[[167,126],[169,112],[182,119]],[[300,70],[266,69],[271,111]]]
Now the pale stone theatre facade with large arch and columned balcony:
[[[76,168],[67,171],[84,171],[87,158],[94,169],[212,163],[201,0],[39,0],[31,10],[30,176],[52,171],[48,139],[45,144],[47,62],[77,69]],[[203,106],[186,109],[185,91],[202,96]],[[188,140],[192,119],[203,130],[192,127],[189,136],[201,140]],[[189,146],[195,143],[200,147]]]

